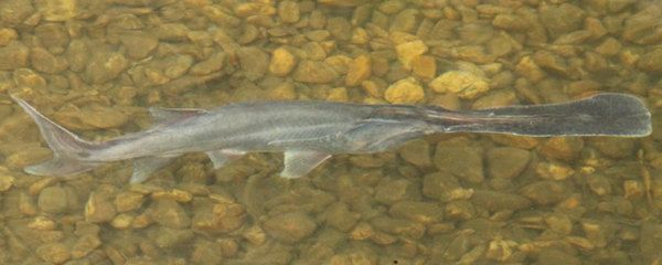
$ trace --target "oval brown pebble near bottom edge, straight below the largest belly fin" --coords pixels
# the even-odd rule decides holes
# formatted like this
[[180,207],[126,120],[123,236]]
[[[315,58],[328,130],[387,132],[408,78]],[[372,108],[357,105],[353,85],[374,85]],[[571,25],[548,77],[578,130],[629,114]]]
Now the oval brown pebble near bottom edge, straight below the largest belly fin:
[[267,234],[285,243],[297,243],[311,235],[317,229],[316,221],[302,212],[282,213],[265,221]]

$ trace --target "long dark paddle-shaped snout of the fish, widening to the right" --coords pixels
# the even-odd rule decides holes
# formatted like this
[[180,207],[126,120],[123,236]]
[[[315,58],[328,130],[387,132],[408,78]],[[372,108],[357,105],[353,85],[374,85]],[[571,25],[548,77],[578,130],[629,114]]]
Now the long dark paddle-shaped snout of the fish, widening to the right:
[[472,112],[428,110],[427,121],[446,132],[524,136],[619,136],[651,134],[651,114],[641,99],[604,93],[579,100]]

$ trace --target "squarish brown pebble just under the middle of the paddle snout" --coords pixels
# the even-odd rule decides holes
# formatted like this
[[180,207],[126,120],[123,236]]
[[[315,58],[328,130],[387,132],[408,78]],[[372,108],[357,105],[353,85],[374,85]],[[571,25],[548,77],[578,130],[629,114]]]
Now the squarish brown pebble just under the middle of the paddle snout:
[[531,152],[512,147],[490,149],[487,153],[488,176],[490,178],[512,179],[526,168]]

